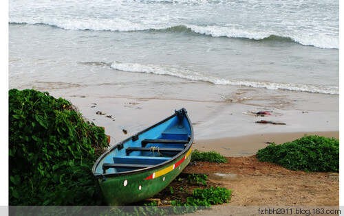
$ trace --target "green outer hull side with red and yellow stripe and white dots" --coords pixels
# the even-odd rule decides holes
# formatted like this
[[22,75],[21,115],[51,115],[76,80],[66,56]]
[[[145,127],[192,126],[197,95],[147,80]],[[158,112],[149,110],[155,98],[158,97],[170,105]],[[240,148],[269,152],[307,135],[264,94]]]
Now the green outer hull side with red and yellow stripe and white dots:
[[116,178],[99,179],[107,204],[120,206],[152,197],[166,188],[189,164],[191,148],[163,167]]

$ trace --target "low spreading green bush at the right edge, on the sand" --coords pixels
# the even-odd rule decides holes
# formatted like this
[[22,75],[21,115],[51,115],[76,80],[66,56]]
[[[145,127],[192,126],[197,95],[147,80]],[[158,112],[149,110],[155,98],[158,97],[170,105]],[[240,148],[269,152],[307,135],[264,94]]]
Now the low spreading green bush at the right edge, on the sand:
[[339,141],[316,135],[303,136],[281,145],[272,143],[260,149],[257,158],[292,170],[338,172]]

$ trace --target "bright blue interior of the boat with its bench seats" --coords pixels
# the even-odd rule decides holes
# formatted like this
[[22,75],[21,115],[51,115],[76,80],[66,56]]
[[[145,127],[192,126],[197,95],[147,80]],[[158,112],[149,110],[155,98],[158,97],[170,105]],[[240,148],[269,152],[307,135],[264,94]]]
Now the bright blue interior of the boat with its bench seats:
[[189,119],[176,114],[118,143],[99,161],[95,172],[120,173],[159,165],[180,154],[190,139]]

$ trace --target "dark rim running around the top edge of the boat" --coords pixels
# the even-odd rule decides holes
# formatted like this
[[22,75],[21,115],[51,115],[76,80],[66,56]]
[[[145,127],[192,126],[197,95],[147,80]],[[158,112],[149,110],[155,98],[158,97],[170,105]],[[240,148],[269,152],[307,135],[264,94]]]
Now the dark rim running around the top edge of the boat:
[[[114,150],[115,148],[117,148],[119,145],[121,145],[122,143],[126,143],[127,141],[130,141],[131,139],[133,139],[133,137],[135,136],[139,136],[140,134],[147,132],[148,130],[151,130],[152,128],[155,128],[157,125],[160,125],[161,123],[164,123],[165,121],[168,121],[169,119],[172,119],[173,117],[176,116],[176,112],[180,111],[180,110],[184,110],[184,114],[185,117],[187,119],[187,121],[189,122],[190,125],[190,130],[191,130],[191,138],[189,140],[188,145],[186,145],[186,147],[182,150],[182,152],[176,154],[175,156],[173,156],[173,158],[166,160],[163,163],[160,163],[158,165],[155,165],[153,167],[147,167],[147,168],[143,168],[143,169],[134,169],[131,171],[123,171],[123,172],[119,172],[119,173],[97,173],[96,172],[96,167],[98,166],[98,164],[100,163],[100,160],[102,160],[103,158],[105,158],[105,156],[107,156],[112,150]],[[187,114],[187,110],[185,108],[181,108],[180,110],[175,110],[175,113],[173,115],[171,115],[170,117],[166,117],[166,119],[163,119],[162,121],[159,121],[158,123],[155,123],[153,125],[151,125],[149,128],[146,128],[136,134],[133,134],[132,136],[129,136],[127,139],[120,141],[119,143],[117,143],[116,145],[110,147],[109,149],[107,149],[107,151],[105,151],[101,156],[99,156],[99,158],[96,160],[96,162],[94,163],[93,167],[92,167],[92,173],[94,174],[94,176],[96,178],[105,178],[105,177],[114,177],[114,176],[125,176],[125,175],[130,175],[130,174],[134,174],[134,173],[143,173],[149,170],[153,170],[153,169],[158,169],[160,167],[164,167],[165,165],[168,165],[169,163],[173,163],[174,160],[176,160],[178,157],[182,156],[183,154],[186,154],[187,151],[189,151],[189,149],[191,148],[191,145],[193,144],[193,125],[190,121],[189,115]]]

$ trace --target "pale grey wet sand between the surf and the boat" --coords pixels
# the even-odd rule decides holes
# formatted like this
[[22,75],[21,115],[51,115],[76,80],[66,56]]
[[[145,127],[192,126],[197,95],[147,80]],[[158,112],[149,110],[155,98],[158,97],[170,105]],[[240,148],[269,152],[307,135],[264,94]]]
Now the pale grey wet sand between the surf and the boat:
[[[264,145],[252,143],[252,145],[240,146],[238,144],[235,149],[235,145],[230,143],[226,144],[231,145],[230,147],[222,146],[226,137],[237,140],[239,136],[263,134],[265,139],[267,137],[264,134],[335,132],[339,128],[338,97],[333,95],[323,97],[323,95],[303,93],[299,95],[297,101],[283,99],[283,103],[289,101],[288,106],[281,106],[280,99],[271,99],[269,104],[269,101],[265,100],[202,101],[183,98],[137,97],[131,95],[130,92],[128,95],[118,95],[116,92],[100,93],[96,89],[92,91],[83,86],[47,91],[54,97],[69,99],[87,120],[105,127],[105,132],[111,136],[111,145],[161,121],[179,108],[188,110],[193,123],[195,147],[201,148],[202,146],[199,146],[198,142],[202,143],[203,140],[211,139],[211,145],[214,142],[218,143],[214,145],[217,150],[228,156],[231,155],[228,153],[228,149],[221,149],[221,147],[232,147],[235,155],[243,156],[255,154],[257,147],[264,147]],[[305,97],[311,99],[305,101]],[[319,103],[320,99],[321,103]],[[247,115],[249,112],[259,110],[269,110],[271,115],[265,117]],[[98,115],[97,112],[105,115]],[[286,125],[256,123],[261,120],[282,122]],[[123,129],[128,133],[123,134]],[[249,141],[249,137],[247,140]],[[238,140],[238,142],[242,141]],[[205,148],[211,148],[211,145],[207,145]]]

